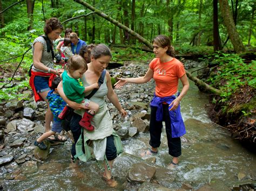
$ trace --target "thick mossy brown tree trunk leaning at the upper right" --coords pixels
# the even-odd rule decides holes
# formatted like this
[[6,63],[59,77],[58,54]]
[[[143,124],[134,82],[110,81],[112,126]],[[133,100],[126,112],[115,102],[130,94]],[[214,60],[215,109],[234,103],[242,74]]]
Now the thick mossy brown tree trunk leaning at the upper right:
[[230,13],[227,0],[219,0],[221,15],[224,19],[224,24],[227,29],[228,36],[230,36],[231,43],[236,53],[245,52],[245,47],[239,37],[237,29],[235,28],[234,19]]

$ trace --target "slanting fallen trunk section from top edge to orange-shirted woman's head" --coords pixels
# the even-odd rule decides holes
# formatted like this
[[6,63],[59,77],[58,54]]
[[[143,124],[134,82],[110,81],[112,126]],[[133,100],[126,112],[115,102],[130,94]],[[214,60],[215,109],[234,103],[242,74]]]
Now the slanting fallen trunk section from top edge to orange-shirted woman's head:
[[108,20],[109,22],[113,23],[114,25],[118,26],[120,29],[125,30],[127,33],[131,34],[131,36],[139,39],[140,41],[142,41],[143,44],[145,44],[147,47],[153,49],[152,44],[147,41],[146,39],[144,39],[142,36],[140,36],[139,34],[137,34],[136,32],[132,31],[131,29],[129,29],[128,27],[124,26],[123,24],[119,23],[117,20],[111,18],[110,16],[107,16],[105,13],[99,11],[98,9],[96,9],[95,7],[91,6],[90,4],[82,1],[82,0],[74,0],[75,2],[82,4],[84,6],[86,6],[88,9],[95,11],[95,13],[97,15],[99,15],[100,17],[105,18],[106,20]]

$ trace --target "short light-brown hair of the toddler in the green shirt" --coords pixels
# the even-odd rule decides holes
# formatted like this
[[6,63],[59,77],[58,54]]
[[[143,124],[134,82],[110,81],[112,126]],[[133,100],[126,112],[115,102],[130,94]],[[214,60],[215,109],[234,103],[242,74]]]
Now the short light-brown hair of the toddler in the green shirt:
[[69,72],[78,70],[80,68],[86,69],[87,70],[87,63],[84,60],[84,58],[80,55],[73,55],[69,58],[68,60],[68,68],[67,70]]

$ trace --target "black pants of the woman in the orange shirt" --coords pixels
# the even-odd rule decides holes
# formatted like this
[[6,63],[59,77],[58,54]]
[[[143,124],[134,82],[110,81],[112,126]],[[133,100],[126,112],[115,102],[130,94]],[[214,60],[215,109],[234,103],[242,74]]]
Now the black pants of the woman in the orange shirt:
[[163,104],[163,121],[156,121],[157,107],[151,107],[150,116],[150,146],[157,148],[161,144],[161,132],[163,128],[163,121],[165,122],[165,130],[167,142],[169,147],[169,154],[173,157],[181,155],[181,141],[180,137],[172,138],[171,119],[169,116],[169,105]]

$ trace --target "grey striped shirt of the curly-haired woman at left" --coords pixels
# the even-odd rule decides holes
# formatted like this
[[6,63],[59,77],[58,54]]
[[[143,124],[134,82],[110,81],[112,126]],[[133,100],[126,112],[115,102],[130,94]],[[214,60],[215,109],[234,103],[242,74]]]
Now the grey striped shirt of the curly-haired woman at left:
[[[53,67],[53,61],[52,61],[52,55],[51,55],[51,51],[47,52],[47,44],[46,41],[44,40],[43,37],[37,37],[34,41],[33,41],[33,46],[32,46],[32,53],[34,55],[35,52],[35,43],[41,43],[43,45],[43,52],[42,52],[42,58],[41,58],[41,63],[43,63],[43,65],[54,69]],[[44,72],[43,70],[39,70],[37,68],[35,68],[35,66],[32,67],[33,72]],[[48,72],[44,72],[44,73],[48,73]]]

